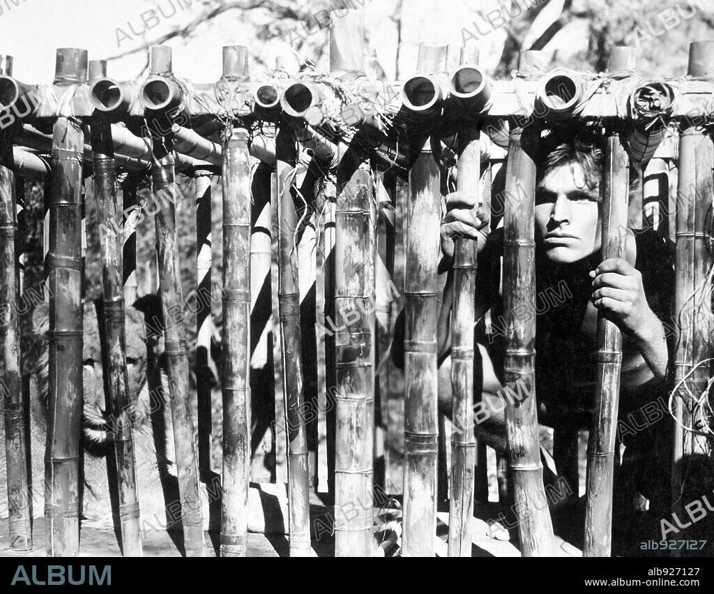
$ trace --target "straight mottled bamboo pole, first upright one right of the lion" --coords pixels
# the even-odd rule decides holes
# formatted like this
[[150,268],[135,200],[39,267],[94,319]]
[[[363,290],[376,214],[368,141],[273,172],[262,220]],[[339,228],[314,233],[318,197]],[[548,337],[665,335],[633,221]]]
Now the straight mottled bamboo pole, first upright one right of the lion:
[[251,468],[251,158],[248,132],[223,145],[223,500],[221,556],[243,557]]

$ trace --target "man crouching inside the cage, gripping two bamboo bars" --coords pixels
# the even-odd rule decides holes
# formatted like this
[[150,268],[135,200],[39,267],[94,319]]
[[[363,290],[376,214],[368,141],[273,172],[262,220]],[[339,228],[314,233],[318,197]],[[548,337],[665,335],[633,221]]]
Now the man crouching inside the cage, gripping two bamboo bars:
[[[563,302],[536,310],[535,387],[538,420],[543,425],[565,425],[589,429],[595,392],[597,320],[601,313],[623,332],[623,362],[620,380],[620,419],[632,412],[638,416],[639,431],[622,435],[625,443],[621,480],[615,491],[620,510],[630,510],[639,501],[642,508],[667,508],[669,459],[658,462],[650,472],[655,442],[661,445],[666,415],[646,427],[642,407],[665,396],[670,373],[670,354],[661,320],[670,316],[673,295],[673,248],[653,230],[629,234],[625,259],[600,259],[600,177],[603,151],[583,131],[552,132],[543,140],[537,163],[535,191],[535,278],[536,294],[545,289],[568,288]],[[588,134],[585,134],[588,136]],[[578,139],[578,137],[580,139]],[[630,196],[636,181],[630,184]],[[476,342],[483,359],[483,400],[491,414],[476,424],[476,437],[506,449],[503,402],[503,340],[486,335],[483,314],[491,320],[501,315],[498,292],[499,265],[503,254],[502,229],[488,234],[488,214],[474,212],[476,197],[453,192],[446,197],[446,215],[441,222],[441,269],[451,269],[454,237],[471,237],[478,242],[479,267],[476,294]],[[481,229],[481,230],[479,230]],[[451,359],[449,327],[453,280],[448,274],[438,325],[440,346],[439,405],[451,415]],[[561,296],[563,292],[560,292]],[[538,299],[537,299],[538,301]],[[547,301],[546,301],[547,303]],[[541,304],[542,305],[542,304]],[[398,323],[397,332],[401,331]],[[490,339],[490,340],[489,340]],[[394,359],[401,359],[396,337]],[[656,478],[658,480],[652,480]],[[659,479],[662,479],[661,482]],[[627,486],[625,487],[625,483]],[[571,485],[578,492],[578,485]],[[657,500],[658,505],[648,505]],[[645,503],[648,502],[648,503]],[[616,505],[616,508],[618,506]],[[615,514],[617,518],[617,514]],[[656,535],[650,538],[658,538]],[[640,539],[641,540],[641,539]]]

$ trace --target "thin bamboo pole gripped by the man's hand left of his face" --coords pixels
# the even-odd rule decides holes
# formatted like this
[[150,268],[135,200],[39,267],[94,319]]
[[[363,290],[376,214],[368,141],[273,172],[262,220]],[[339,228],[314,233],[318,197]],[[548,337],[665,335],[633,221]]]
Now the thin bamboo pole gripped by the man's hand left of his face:
[[[478,129],[463,127],[458,134],[458,190],[479,197],[481,154]],[[476,201],[476,205],[478,205]],[[475,207],[476,208],[476,207]],[[476,320],[476,251],[473,239],[454,244],[453,309],[451,311],[451,505],[449,508],[449,557],[471,557],[473,477],[476,438],[473,435],[473,324]],[[477,395],[480,396],[480,395]],[[463,425],[463,426],[462,426]]]

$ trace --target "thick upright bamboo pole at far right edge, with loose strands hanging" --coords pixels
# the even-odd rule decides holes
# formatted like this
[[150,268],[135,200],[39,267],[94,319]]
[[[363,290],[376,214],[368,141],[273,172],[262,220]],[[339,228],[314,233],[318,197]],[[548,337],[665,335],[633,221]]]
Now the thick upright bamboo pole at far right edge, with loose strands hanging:
[[[696,41],[689,47],[689,76],[714,76],[711,41]],[[701,415],[694,400],[703,396],[709,380],[710,364],[697,365],[711,357],[711,285],[707,270],[708,226],[705,222],[713,194],[712,164],[714,148],[710,134],[691,122],[683,122],[679,144],[679,178],[676,202],[676,284],[675,320],[678,324],[675,354],[672,503],[682,517],[685,492],[685,466],[695,455],[708,454],[705,437],[683,429],[710,422]],[[687,378],[685,380],[685,378]],[[708,396],[704,396],[705,400]]]

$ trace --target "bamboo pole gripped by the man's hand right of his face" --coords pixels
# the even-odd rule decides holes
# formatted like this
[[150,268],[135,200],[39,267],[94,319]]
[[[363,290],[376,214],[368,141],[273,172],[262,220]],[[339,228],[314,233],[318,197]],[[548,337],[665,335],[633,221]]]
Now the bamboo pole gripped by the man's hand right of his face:
[[[620,133],[610,130],[603,164],[602,259],[625,257],[628,219],[628,155]],[[593,428],[588,439],[585,544],[583,556],[609,557],[613,520],[613,465],[615,430],[620,401],[622,333],[598,315],[598,370]]]

